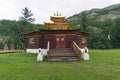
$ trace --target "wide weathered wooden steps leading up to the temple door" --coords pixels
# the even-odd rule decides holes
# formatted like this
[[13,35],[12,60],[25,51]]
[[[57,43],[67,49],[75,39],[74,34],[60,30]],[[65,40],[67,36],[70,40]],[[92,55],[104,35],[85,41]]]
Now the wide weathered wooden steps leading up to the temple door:
[[51,49],[48,61],[79,61],[79,57],[72,48]]

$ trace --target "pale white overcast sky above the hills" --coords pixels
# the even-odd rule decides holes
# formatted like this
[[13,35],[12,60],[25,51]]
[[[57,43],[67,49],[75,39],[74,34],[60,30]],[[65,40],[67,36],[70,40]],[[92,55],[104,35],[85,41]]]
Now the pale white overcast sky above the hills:
[[69,17],[83,10],[119,3],[120,0],[0,0],[0,20],[19,20],[22,9],[28,7],[36,20],[34,23],[43,24],[57,11]]

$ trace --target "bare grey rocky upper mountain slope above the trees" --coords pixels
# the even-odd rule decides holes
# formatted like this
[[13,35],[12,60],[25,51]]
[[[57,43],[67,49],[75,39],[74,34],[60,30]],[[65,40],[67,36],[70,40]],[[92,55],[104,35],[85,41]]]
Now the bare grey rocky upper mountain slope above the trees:
[[[116,19],[120,17],[120,4],[111,5],[102,9],[94,8],[91,10],[83,11],[86,13],[88,19],[95,19],[98,21],[104,21],[107,19]],[[82,12],[75,14],[66,19],[67,22],[73,22],[80,20]]]

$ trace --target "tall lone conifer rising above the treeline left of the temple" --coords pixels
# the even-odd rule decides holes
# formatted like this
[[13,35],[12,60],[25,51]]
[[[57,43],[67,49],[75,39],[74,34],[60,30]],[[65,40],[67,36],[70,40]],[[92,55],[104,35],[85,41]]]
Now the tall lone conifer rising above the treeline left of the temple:
[[21,13],[23,14],[23,16],[20,17],[20,20],[21,20],[22,25],[23,25],[23,32],[22,32],[23,39],[22,39],[22,41],[24,42],[24,50],[25,50],[26,49],[26,42],[25,42],[26,41],[26,36],[24,34],[26,34],[26,26],[27,26],[28,23],[31,23],[31,22],[35,21],[35,19],[32,18],[33,14],[30,10],[28,10],[27,7],[22,9]]

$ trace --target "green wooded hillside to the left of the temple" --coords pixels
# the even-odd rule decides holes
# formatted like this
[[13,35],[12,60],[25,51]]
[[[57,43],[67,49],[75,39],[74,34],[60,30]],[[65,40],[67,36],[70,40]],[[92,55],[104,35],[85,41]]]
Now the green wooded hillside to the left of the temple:
[[[22,23],[20,21],[1,20],[0,21],[0,49],[4,48],[7,44],[10,47],[19,45],[23,48],[22,42]],[[44,29],[40,24],[27,24],[27,33],[38,29]]]

